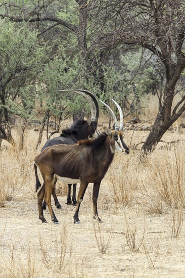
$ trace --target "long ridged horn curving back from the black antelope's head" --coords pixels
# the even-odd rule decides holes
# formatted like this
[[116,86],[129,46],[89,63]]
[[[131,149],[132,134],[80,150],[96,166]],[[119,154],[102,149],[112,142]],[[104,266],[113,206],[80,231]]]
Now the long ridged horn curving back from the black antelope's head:
[[92,102],[87,96],[87,98],[85,98],[87,100],[87,102],[90,105],[90,109],[91,109],[91,120],[92,121],[97,121],[98,122],[98,118],[99,118],[99,105],[98,105],[98,101],[96,99],[96,97],[88,90],[84,90],[84,89],[68,89],[68,90],[57,90],[57,91],[72,91],[72,92],[76,92],[77,94],[83,96],[85,98],[84,94],[87,94],[88,96],[91,97]]

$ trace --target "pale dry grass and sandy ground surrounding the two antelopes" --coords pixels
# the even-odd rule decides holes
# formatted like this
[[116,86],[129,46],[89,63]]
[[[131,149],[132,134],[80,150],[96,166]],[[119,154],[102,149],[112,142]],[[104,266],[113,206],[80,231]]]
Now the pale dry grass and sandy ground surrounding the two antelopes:
[[[135,131],[134,143],[147,134]],[[184,276],[182,141],[162,149],[160,144],[147,159],[132,150],[129,156],[116,154],[100,187],[98,210],[104,223],[93,220],[92,225],[89,184],[80,207],[81,224],[74,225],[75,207],[65,205],[67,186],[58,182],[62,209],[53,205],[60,221],[55,226],[49,213],[44,212],[47,224],[41,224],[37,215],[33,171],[33,158],[39,153],[37,135],[32,130],[26,133],[23,150],[2,145],[2,278]],[[128,131],[125,142],[131,136]],[[178,138],[184,138],[178,129],[164,136],[165,141]],[[41,146],[44,141],[45,137]]]

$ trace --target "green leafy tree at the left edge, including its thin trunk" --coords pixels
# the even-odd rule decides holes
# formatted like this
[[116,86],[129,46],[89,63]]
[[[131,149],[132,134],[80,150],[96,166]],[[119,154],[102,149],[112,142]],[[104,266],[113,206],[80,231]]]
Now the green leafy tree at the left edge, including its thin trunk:
[[19,29],[7,19],[1,20],[0,43],[0,137],[15,145],[11,133],[9,115],[27,120],[34,107],[33,87],[41,65],[45,63],[47,48],[37,45],[37,32],[26,24]]

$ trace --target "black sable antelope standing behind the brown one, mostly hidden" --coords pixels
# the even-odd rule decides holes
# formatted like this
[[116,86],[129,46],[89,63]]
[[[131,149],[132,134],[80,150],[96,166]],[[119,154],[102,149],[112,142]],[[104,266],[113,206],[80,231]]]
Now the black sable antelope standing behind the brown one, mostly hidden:
[[[86,101],[90,105],[91,121],[90,123],[88,123],[86,119],[83,120],[81,119],[74,122],[68,129],[62,130],[60,136],[48,140],[45,143],[45,145],[42,147],[41,151],[54,145],[60,145],[60,144],[72,145],[77,143],[79,140],[88,139],[88,137],[98,136],[98,134],[96,133],[96,129],[97,129],[98,118],[99,118],[99,105],[95,96],[87,90],[59,90],[59,92],[63,92],[63,91],[75,92],[76,94],[81,95],[86,99]],[[60,209],[61,205],[57,199],[55,188],[52,191],[52,195],[54,197],[56,207]],[[73,205],[76,205],[76,183],[73,183],[72,202]],[[68,184],[67,204],[71,205],[72,202],[71,202],[71,184]],[[43,209],[46,209],[47,203],[45,202],[45,200],[43,201],[42,206]]]

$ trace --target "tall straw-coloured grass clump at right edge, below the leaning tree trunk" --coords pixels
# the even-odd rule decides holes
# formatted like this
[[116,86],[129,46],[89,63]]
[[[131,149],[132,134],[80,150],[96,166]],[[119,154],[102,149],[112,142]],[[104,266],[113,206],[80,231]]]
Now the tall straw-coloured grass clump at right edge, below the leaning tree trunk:
[[169,208],[185,207],[185,146],[174,145],[162,152],[162,161],[153,153],[151,185]]

